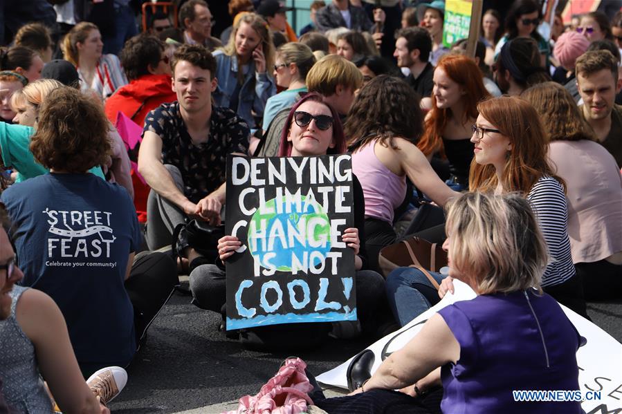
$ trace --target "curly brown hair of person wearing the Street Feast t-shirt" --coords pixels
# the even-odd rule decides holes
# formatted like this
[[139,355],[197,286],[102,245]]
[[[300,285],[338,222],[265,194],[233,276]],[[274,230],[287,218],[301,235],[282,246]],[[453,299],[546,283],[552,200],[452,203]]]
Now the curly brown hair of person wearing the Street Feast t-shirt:
[[111,152],[108,131],[100,103],[62,86],[51,91],[40,106],[30,151],[48,169],[85,173],[106,162]]

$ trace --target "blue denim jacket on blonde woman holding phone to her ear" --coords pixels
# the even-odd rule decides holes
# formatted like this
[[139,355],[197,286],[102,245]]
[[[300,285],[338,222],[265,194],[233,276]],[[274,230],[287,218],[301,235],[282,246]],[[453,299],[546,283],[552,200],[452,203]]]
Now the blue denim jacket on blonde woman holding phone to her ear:
[[[235,56],[226,55],[222,50],[216,50],[212,55],[216,58],[216,77],[218,79],[218,86],[216,91],[212,93],[212,97],[214,97],[217,106],[228,108],[231,94],[235,91],[237,83],[237,59]],[[237,114],[246,121],[251,129],[255,129],[257,123],[253,117],[253,111],[255,116],[262,119],[266,101],[268,97],[275,95],[277,87],[274,79],[268,75],[267,70],[266,73],[255,73],[255,61],[253,59],[250,60],[249,65],[250,68],[244,78],[244,83],[239,89]]]

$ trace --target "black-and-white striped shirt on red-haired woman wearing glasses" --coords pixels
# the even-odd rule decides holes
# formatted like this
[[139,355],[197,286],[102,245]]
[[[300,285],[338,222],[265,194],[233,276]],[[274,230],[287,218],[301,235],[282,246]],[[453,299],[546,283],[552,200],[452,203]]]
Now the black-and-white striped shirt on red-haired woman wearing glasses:
[[575,275],[568,238],[568,207],[564,189],[550,176],[542,176],[527,195],[549,247],[551,261],[542,275],[542,287],[559,285]]

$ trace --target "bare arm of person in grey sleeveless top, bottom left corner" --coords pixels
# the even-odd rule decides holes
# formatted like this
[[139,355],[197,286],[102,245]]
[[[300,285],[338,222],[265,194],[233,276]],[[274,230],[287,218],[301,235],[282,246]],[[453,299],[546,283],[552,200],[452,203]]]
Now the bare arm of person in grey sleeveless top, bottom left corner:
[[63,413],[97,413],[102,406],[84,382],[60,309],[47,294],[28,289],[17,303],[17,322],[35,346],[37,362]]

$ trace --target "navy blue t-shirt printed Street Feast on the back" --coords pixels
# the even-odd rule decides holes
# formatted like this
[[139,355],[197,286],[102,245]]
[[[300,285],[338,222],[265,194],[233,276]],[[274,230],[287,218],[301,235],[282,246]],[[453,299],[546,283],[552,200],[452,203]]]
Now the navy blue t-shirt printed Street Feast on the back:
[[90,173],[47,173],[0,200],[17,227],[21,285],[57,303],[78,362],[128,364],[136,339],[124,281],[141,235],[127,191]]

